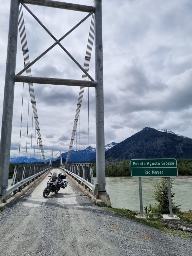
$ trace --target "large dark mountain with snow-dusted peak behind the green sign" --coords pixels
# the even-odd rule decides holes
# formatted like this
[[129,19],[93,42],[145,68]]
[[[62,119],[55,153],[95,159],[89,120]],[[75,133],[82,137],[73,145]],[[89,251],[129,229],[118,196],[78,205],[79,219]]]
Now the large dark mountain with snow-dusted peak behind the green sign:
[[105,153],[115,160],[138,158],[192,158],[192,139],[168,130],[145,127]]

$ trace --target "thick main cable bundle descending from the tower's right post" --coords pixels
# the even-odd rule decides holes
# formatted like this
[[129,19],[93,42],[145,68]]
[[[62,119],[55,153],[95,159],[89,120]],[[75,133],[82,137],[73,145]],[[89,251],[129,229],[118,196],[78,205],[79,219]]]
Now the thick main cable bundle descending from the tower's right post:
[[[89,38],[88,38],[87,50],[86,50],[85,62],[84,62],[84,69],[86,70],[86,72],[88,70],[89,62],[90,62],[90,58],[91,58],[91,52],[92,52],[92,47],[93,47],[94,35],[95,35],[94,31],[95,31],[94,30],[94,14],[92,14],[90,31],[89,31]],[[82,80],[86,80],[86,77],[87,77],[87,75],[85,73],[83,73]],[[76,128],[77,128],[77,122],[78,122],[78,119],[79,119],[79,113],[80,113],[80,108],[81,108],[83,92],[84,92],[84,87],[80,87],[79,98],[78,98],[76,114],[75,114],[75,121],[74,121],[74,126],[73,126],[73,131],[72,131],[72,137],[71,137],[69,151],[68,151],[67,159],[66,159],[65,163],[68,162],[70,154],[71,154],[71,148],[72,148],[72,145],[73,145],[73,140],[74,140],[75,132],[76,132]]]

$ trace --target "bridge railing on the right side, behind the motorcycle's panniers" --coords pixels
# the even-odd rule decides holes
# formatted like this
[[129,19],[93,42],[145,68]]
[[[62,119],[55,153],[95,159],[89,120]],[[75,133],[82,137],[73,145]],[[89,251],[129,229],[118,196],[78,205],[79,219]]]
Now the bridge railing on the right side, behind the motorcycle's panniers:
[[94,185],[93,169],[90,163],[63,164],[59,168],[84,185],[85,189],[92,191],[98,198],[98,184]]

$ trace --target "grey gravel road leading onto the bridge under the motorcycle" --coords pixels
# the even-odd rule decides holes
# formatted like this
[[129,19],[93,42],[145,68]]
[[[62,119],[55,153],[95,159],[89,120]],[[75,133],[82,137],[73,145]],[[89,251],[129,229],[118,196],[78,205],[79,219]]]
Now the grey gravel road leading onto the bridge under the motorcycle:
[[116,216],[66,180],[65,189],[45,199],[45,177],[0,212],[0,255],[192,255],[191,239]]

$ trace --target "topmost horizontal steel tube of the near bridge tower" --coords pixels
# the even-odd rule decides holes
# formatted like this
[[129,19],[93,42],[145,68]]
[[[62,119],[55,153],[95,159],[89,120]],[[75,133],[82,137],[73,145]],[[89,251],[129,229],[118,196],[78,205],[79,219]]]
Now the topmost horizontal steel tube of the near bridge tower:
[[67,9],[72,11],[95,12],[95,7],[93,6],[64,3],[64,2],[53,1],[53,0],[22,0],[22,2],[25,4]]

